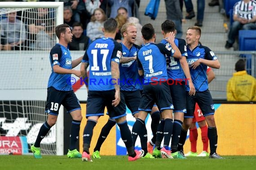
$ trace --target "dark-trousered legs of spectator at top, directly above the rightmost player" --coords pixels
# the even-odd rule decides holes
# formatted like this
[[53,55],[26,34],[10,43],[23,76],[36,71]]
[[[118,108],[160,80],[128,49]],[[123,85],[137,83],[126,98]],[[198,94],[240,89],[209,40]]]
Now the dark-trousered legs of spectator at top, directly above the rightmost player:
[[[186,17],[185,19],[192,19],[195,17],[194,6],[192,0],[184,0],[186,6]],[[181,4],[181,7],[183,5]],[[194,26],[203,26],[203,15],[204,15],[205,0],[197,0],[197,22]]]

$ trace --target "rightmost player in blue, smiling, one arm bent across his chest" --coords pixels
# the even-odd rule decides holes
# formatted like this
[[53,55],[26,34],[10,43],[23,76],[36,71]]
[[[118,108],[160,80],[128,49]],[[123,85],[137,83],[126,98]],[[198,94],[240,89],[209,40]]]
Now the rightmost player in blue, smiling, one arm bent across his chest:
[[187,62],[190,67],[190,74],[195,86],[196,93],[194,96],[189,95],[189,86],[186,85],[187,113],[185,113],[184,115],[184,122],[182,125],[178,150],[181,150],[181,152],[183,152],[183,145],[185,144],[187,131],[190,128],[192,119],[194,117],[195,103],[197,102],[208,124],[207,136],[210,142],[209,157],[219,159],[222,157],[216,153],[218,135],[214,119],[215,110],[212,101],[212,95],[208,90],[206,71],[207,66],[219,69],[221,67],[221,64],[214,52],[212,52],[208,47],[202,46],[199,43],[200,37],[200,27],[191,26],[188,28],[186,33],[188,53]]

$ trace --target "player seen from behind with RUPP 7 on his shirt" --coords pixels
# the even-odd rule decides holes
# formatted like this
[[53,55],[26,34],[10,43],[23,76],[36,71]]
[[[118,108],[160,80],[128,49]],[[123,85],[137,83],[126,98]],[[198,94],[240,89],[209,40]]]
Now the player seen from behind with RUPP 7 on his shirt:
[[[151,24],[146,24],[141,29],[142,37],[144,39],[145,46],[138,52],[138,68],[139,74],[143,75],[144,83],[143,93],[139,106],[139,116],[132,127],[133,140],[137,139],[138,134],[143,133],[143,125],[148,113],[151,112],[151,108],[154,103],[163,112],[165,118],[164,125],[164,146],[169,145],[172,135],[172,98],[170,89],[167,84],[167,70],[166,70],[166,55],[175,56],[181,58],[181,52],[178,50],[174,43],[174,33],[170,33],[167,37],[168,43],[172,45],[172,48],[165,46],[162,43],[155,44],[155,32]],[[158,139],[158,137],[157,137]],[[153,155],[155,157],[161,157],[160,144],[156,139],[155,149]]]

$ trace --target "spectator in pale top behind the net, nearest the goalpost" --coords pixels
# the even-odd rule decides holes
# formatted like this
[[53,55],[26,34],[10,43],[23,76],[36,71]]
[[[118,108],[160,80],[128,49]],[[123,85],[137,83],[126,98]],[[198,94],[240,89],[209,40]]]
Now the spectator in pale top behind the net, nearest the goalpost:
[[50,50],[55,44],[56,36],[54,33],[54,22],[48,20],[44,26],[44,29],[41,29],[36,34],[36,48],[40,50]]

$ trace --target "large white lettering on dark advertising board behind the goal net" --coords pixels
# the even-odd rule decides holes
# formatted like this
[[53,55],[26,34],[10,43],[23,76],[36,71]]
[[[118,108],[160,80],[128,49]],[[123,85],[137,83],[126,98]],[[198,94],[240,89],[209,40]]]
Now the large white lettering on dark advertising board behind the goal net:
[[[32,125],[29,123],[28,118],[16,118],[13,123],[5,123],[6,118],[0,118],[2,122],[2,128],[6,131],[5,136],[18,136],[24,135],[27,138],[28,144],[33,144],[37,137],[37,132],[40,130],[40,127],[43,123],[36,123]],[[28,123],[26,123],[28,122]],[[24,132],[25,131],[25,132]],[[26,134],[26,132],[28,132]],[[54,125],[49,135],[45,137],[46,139],[42,141],[42,144],[52,144],[56,142],[56,126]]]

